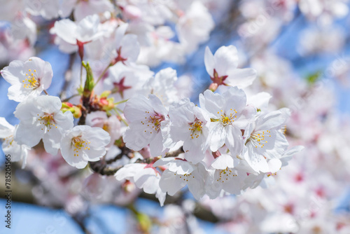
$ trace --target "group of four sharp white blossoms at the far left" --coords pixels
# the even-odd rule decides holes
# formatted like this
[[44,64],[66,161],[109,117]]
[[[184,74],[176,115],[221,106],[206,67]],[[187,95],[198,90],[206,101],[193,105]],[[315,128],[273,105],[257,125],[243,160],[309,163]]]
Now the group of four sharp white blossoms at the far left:
[[41,140],[45,151],[55,156],[61,149],[66,162],[78,168],[85,167],[88,160],[104,156],[105,146],[111,139],[106,131],[90,126],[73,128],[73,114],[61,111],[59,97],[40,95],[52,79],[48,62],[38,57],[31,57],[27,62],[15,60],[1,70],[1,75],[11,84],[8,98],[20,102],[14,112],[20,124],[13,127],[2,120],[4,131],[7,130],[3,133],[6,140],[3,149],[21,152],[15,160],[23,158],[25,162],[27,149]]

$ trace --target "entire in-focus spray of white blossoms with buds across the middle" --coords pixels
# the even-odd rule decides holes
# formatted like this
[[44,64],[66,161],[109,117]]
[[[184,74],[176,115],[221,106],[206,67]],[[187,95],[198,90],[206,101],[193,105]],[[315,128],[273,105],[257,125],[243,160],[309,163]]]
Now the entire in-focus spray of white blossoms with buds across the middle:
[[[135,65],[120,60],[104,81],[113,83],[111,90],[94,96],[97,83],[90,77],[91,68],[83,64],[87,77],[80,104],[73,105],[62,104],[59,97],[40,95],[52,79],[48,62],[38,57],[11,62],[1,74],[11,83],[8,97],[20,102],[15,110],[20,124],[11,127],[16,150],[25,152],[42,140],[46,152],[56,155],[60,150],[69,165],[84,168],[87,162],[120,148],[122,140],[132,159],[116,171],[116,179],[131,180],[146,193],[156,193],[161,203],[166,193],[174,195],[186,185],[196,199],[255,188],[302,149],[288,149],[284,131],[290,111],[270,111],[269,98],[257,98],[266,93],[247,97],[238,88],[253,82],[255,70],[237,69],[235,47],[223,46],[215,55],[207,48],[204,61],[213,83],[211,90],[200,94],[200,106],[179,98],[179,91],[173,88],[178,79],[173,69],[163,69],[144,78],[144,85],[135,85],[132,79],[140,79],[131,69]],[[225,90],[214,92],[219,86]],[[109,102],[113,92],[118,96]],[[114,97],[128,99],[114,104]],[[120,104],[122,109],[116,107]],[[79,113],[76,127],[73,113]],[[176,147],[181,151],[167,158]],[[138,151],[143,156],[135,162]]]

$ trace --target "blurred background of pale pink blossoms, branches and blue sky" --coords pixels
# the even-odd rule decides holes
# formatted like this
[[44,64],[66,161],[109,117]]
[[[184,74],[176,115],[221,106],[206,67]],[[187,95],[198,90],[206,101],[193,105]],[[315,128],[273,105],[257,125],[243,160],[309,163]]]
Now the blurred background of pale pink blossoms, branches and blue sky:
[[[138,6],[137,1],[120,2]],[[169,6],[169,2],[149,4]],[[20,163],[12,165],[13,226],[8,230],[1,224],[0,233],[350,233],[349,1],[201,0],[186,4],[193,2],[205,6],[214,20],[210,36],[183,49],[176,59],[171,56],[174,50],[164,53],[165,43],[158,41],[158,47],[141,43],[138,62],[155,72],[176,69],[178,87],[185,90],[188,87],[181,82],[190,81],[192,88],[186,92],[198,102],[198,94],[211,83],[204,67],[206,46],[213,53],[221,46],[236,46],[239,67],[258,71],[248,92],[269,92],[273,106],[291,109],[286,135],[290,146],[303,145],[304,151],[273,176],[272,184],[239,196],[200,201],[184,188],[160,207],[154,195],[114,177],[92,174],[88,168],[75,170],[39,145],[29,152],[25,169]],[[118,17],[125,17],[119,1],[113,7]],[[55,44],[55,35],[50,34],[55,20],[28,15],[31,22],[16,29],[2,12],[8,9],[0,10],[0,68],[12,60],[41,57],[52,64],[54,73],[48,92],[60,95],[67,71],[74,73],[72,64],[79,62],[78,56],[63,53]],[[31,23],[36,25],[34,30]],[[167,41],[183,43],[179,20],[165,20],[162,25],[174,31]],[[159,22],[153,27],[160,27]],[[22,33],[13,33],[16,30]],[[154,57],[147,60],[151,53]],[[15,125],[17,103],[8,100],[8,87],[0,78],[0,116]],[[4,161],[1,151],[1,193],[6,190]],[[2,197],[1,216],[5,204]]]

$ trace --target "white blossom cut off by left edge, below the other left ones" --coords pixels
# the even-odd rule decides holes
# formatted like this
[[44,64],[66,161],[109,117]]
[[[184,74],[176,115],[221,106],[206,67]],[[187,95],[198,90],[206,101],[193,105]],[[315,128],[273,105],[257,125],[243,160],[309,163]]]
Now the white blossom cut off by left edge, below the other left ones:
[[18,162],[22,160],[22,168],[27,163],[29,146],[25,144],[18,144],[14,140],[16,126],[10,125],[5,118],[0,117],[0,138],[3,140],[3,153],[9,154],[11,162]]

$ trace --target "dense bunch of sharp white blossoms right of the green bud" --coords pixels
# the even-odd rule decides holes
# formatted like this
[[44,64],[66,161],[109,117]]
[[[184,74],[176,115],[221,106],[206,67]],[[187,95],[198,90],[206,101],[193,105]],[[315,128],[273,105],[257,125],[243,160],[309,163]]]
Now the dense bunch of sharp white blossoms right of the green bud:
[[[223,60],[230,66],[231,48],[220,50],[228,54],[228,61]],[[240,194],[276,174],[302,149],[288,149],[284,131],[290,111],[268,111],[260,106],[267,103],[247,101],[246,93],[237,86],[222,94],[206,90],[200,94],[200,106],[189,99],[166,105],[157,95],[137,95],[125,104],[129,127],[123,140],[134,151],[147,148],[151,156],[160,158],[153,169],[162,172],[159,186],[163,193],[174,195],[188,185],[196,199],[205,194],[214,199],[221,191]],[[176,146],[182,146],[182,156],[163,158]],[[117,179],[127,178],[122,174],[127,173],[118,171]]]

